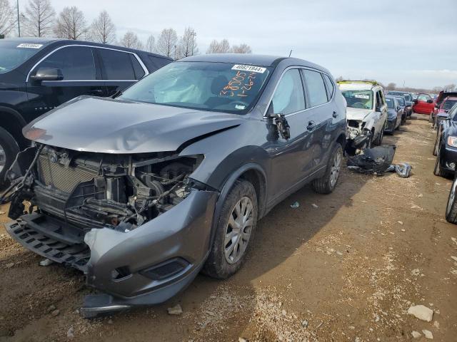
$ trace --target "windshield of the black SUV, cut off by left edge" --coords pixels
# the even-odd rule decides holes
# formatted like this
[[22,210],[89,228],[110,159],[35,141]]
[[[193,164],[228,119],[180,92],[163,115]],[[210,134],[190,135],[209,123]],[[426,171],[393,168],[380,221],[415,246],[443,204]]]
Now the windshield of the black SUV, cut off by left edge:
[[0,73],[6,73],[20,66],[41,48],[43,48],[42,44],[0,40]]

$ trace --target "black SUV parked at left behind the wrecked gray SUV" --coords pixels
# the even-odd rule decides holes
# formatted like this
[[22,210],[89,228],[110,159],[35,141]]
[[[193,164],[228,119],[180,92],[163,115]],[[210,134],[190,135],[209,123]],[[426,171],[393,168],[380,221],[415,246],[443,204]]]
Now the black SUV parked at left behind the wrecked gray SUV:
[[0,40],[0,185],[22,128],[79,95],[109,96],[170,63],[145,51],[54,38]]

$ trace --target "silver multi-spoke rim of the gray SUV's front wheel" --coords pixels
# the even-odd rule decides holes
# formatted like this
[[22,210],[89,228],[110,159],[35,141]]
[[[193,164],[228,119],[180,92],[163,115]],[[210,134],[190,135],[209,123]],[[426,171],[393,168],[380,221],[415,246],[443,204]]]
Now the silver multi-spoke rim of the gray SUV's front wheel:
[[229,217],[224,238],[224,254],[229,264],[235,264],[248,246],[253,226],[253,204],[243,196],[236,202]]

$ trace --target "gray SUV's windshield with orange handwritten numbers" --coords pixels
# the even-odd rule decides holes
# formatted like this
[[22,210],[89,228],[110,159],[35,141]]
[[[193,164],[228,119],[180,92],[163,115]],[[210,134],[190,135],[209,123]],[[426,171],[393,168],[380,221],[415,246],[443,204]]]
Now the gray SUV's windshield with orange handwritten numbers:
[[231,63],[175,62],[127,89],[121,99],[199,110],[246,113],[271,68]]

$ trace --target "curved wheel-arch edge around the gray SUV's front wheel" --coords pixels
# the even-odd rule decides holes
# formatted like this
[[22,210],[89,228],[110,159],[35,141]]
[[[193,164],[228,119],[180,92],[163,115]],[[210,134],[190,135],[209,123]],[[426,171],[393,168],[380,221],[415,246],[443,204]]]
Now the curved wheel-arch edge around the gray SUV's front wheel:
[[[219,215],[221,214],[222,210],[222,205],[224,204],[224,201],[226,197],[229,195],[229,192],[233,185],[235,184],[236,180],[243,175],[244,172],[248,170],[256,170],[261,173],[263,179],[265,180],[265,187],[264,191],[266,192],[267,189],[267,178],[266,178],[266,173],[263,170],[263,168],[256,164],[256,163],[248,163],[236,170],[235,172],[232,172],[232,174],[229,176],[229,178],[226,180],[224,183],[224,187],[222,187],[221,193],[219,194],[219,198],[217,199],[216,202],[216,207],[214,208],[214,215],[213,215],[213,223],[211,225],[211,238],[210,238],[210,245],[209,249],[211,249],[211,246],[214,242],[214,236],[216,235],[216,227],[217,223],[219,222]],[[261,219],[263,217],[263,214],[265,212],[265,204],[266,204],[266,195],[263,194],[263,196],[259,196],[260,199],[262,199],[262,203],[258,203],[258,219]]]

